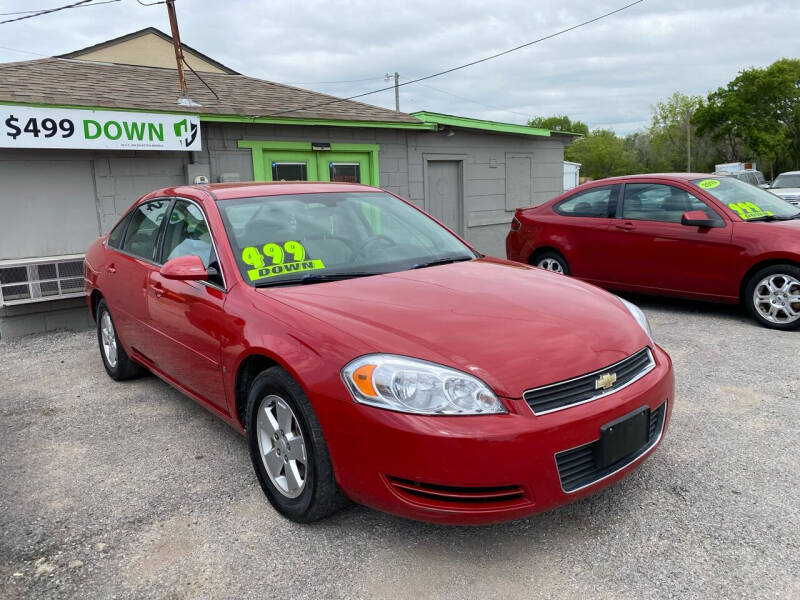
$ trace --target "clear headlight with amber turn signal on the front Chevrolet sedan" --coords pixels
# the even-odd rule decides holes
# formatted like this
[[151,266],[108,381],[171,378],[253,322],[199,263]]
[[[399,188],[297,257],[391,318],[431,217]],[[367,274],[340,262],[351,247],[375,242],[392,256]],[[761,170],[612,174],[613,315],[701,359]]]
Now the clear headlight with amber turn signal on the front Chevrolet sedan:
[[424,360],[369,354],[345,366],[342,379],[356,402],[389,410],[426,415],[506,412],[477,377]]

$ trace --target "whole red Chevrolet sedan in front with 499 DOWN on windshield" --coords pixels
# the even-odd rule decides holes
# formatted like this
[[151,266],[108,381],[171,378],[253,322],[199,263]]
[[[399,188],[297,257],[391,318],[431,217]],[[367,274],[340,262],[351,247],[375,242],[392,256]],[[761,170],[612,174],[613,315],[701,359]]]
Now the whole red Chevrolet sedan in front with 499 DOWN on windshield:
[[288,518],[348,499],[489,523],[622,478],[662,439],[672,364],[634,305],[480,256],[352,184],[158,190],[86,255],[100,355],[246,435]]

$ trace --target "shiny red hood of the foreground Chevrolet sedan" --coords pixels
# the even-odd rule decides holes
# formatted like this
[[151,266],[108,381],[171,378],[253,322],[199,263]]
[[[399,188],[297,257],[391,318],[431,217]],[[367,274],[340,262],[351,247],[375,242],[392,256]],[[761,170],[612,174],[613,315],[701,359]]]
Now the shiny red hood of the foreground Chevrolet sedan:
[[650,343],[608,292],[499,259],[258,291],[350,336],[358,349],[350,358],[421,358],[472,373],[511,398]]

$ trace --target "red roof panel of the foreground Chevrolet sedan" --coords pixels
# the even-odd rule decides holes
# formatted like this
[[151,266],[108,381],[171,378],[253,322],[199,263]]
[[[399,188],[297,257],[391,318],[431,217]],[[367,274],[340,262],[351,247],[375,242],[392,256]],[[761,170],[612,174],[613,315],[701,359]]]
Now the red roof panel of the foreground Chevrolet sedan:
[[[159,196],[208,195],[215,200],[253,198],[258,196],[279,196],[285,194],[323,194],[326,192],[380,192],[376,187],[358,183],[309,182],[309,181],[249,181],[236,183],[211,183],[203,185],[183,185],[155,190],[142,200]],[[202,192],[205,192],[203,194]]]

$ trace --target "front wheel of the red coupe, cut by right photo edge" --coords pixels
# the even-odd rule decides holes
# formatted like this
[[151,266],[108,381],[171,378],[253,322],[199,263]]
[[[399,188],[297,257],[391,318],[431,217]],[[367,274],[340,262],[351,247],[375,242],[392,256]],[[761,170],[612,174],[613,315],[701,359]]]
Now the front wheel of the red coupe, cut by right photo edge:
[[800,327],[800,267],[773,265],[750,278],[744,293],[750,314],[772,329]]

